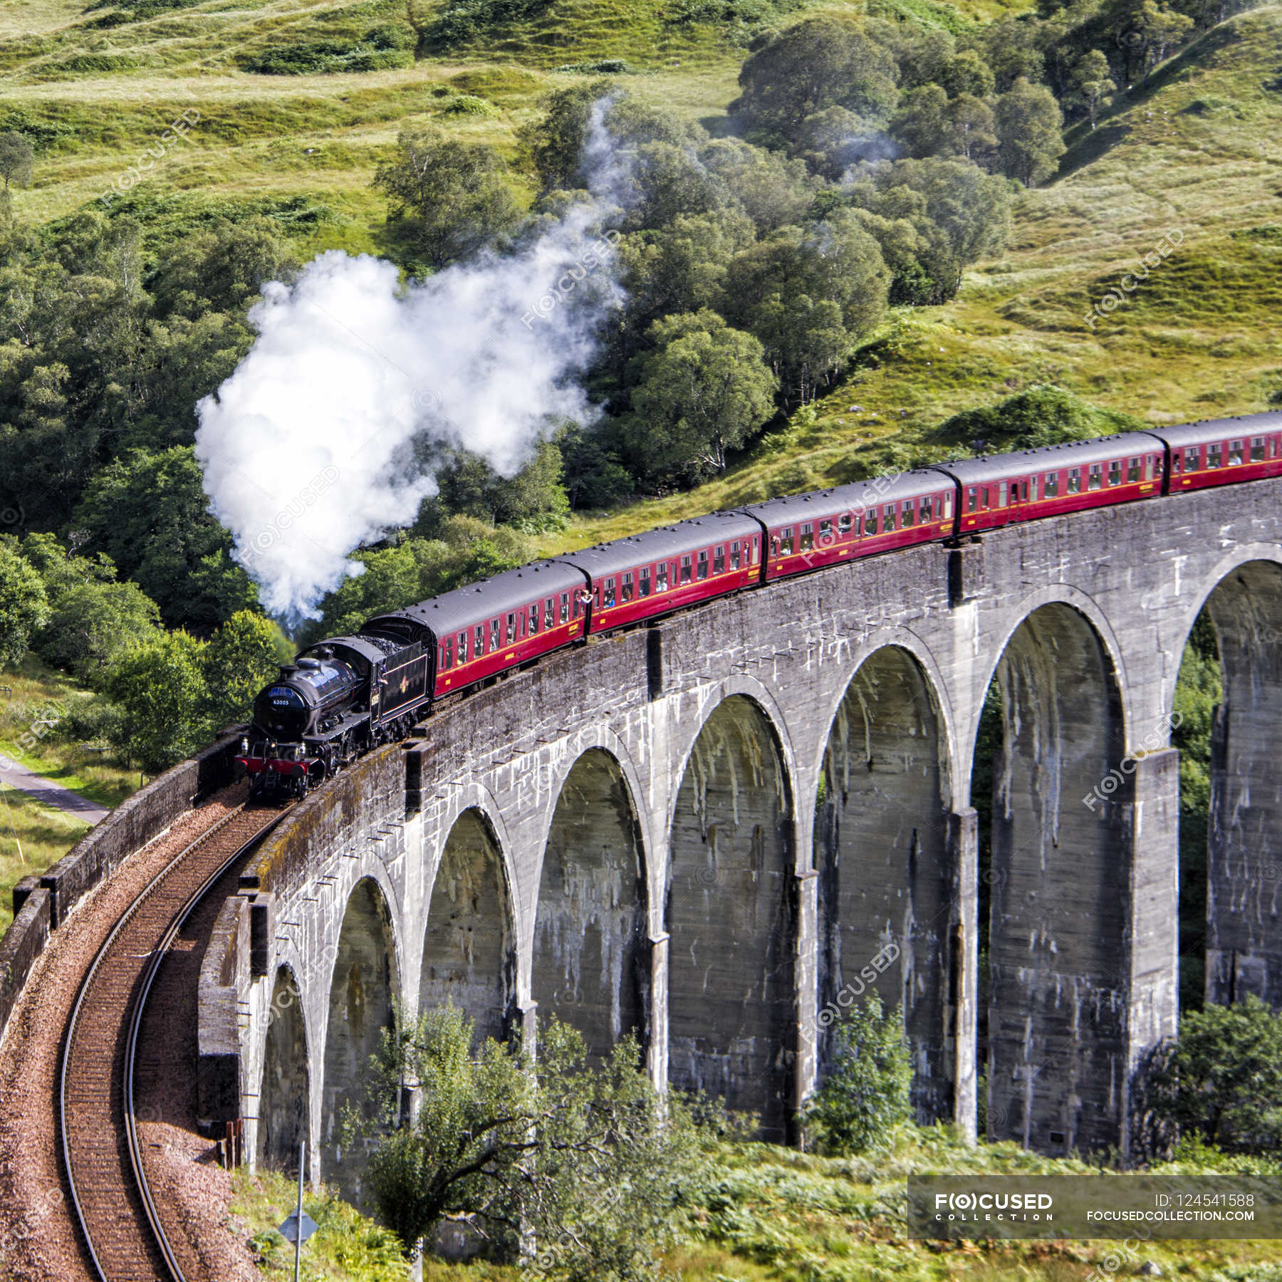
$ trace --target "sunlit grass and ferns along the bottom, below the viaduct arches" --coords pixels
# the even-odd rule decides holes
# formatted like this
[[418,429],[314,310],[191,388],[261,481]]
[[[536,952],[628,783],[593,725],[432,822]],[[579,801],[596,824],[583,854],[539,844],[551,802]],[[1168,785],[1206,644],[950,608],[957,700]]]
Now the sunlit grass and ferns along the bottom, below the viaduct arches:
[[[908,1127],[883,1150],[850,1160],[817,1158],[773,1145],[724,1146],[717,1187],[690,1213],[687,1241],[668,1255],[686,1282],[1081,1282],[1092,1273],[1135,1276],[1145,1261],[1155,1276],[1215,1282],[1278,1282],[1282,1269],[1267,1242],[986,1244],[913,1241],[904,1236],[904,1181],[941,1174],[1090,1174],[1077,1161],[1040,1158],[1013,1144],[968,1147],[946,1128]],[[1185,1167],[1195,1176],[1197,1168]],[[272,1229],[292,1209],[292,1181],[236,1176],[232,1224],[251,1237],[269,1279],[292,1276],[292,1253]],[[390,1259],[387,1235],[329,1196],[306,1197],[320,1232],[308,1244],[308,1282],[392,1282],[404,1277]],[[515,1267],[450,1265],[429,1260],[424,1282],[529,1282]]]

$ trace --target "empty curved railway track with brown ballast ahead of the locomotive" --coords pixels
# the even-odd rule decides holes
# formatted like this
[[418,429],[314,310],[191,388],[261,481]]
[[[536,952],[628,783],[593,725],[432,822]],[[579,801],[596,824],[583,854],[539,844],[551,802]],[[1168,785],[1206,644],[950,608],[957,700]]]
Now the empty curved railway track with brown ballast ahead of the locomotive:
[[183,847],[115,923],[76,995],[58,1123],[71,1206],[101,1282],[186,1282],[147,1187],[133,1068],[147,994],[205,891],[281,820],[241,805]]

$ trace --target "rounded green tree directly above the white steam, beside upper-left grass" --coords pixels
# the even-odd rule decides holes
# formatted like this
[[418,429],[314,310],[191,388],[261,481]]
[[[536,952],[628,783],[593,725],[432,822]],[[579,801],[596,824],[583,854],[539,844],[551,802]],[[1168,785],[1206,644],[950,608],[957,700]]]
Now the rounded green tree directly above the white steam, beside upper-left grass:
[[505,173],[488,144],[419,129],[400,135],[396,159],[378,167],[374,186],[390,197],[405,238],[442,268],[515,227]]

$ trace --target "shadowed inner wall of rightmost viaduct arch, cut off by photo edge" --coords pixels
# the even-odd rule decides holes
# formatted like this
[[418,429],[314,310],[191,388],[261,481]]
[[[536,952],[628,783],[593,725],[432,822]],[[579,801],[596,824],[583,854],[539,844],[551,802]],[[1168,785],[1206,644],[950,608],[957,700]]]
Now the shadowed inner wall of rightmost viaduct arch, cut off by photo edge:
[[[1235,558],[1205,595],[1222,696],[1211,724],[1206,987],[1282,1008],[1282,555]],[[1190,624],[1191,627],[1191,624]]]

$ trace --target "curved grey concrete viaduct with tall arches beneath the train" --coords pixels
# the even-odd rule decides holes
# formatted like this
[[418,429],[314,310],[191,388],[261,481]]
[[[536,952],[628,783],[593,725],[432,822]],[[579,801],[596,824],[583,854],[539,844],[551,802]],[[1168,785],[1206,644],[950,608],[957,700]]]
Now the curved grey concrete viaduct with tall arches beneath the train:
[[308,1137],[328,1177],[394,1004],[453,999],[496,1037],[531,1036],[536,1010],[595,1051],[635,1031],[656,1083],[786,1140],[833,1015],[876,987],[904,1006],[920,1119],[973,1132],[986,1064],[994,1138],[1126,1151],[1136,1065],[1176,1028],[1169,728],[1204,608],[1224,667],[1208,996],[1282,1005],[1279,496],[1255,482],[820,570],[441,709],[303,803],[224,904],[203,1111],[242,1117],[258,1160]]

